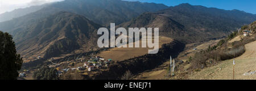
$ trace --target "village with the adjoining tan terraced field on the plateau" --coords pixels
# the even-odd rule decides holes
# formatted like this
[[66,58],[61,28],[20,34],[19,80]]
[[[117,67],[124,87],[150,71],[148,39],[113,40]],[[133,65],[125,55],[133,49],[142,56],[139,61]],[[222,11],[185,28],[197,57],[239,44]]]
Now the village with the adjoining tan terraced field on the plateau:
[[[153,40],[154,41],[154,38]],[[159,37],[159,49],[162,48],[162,45],[166,45],[171,43],[172,41],[174,41],[171,38],[168,37]],[[140,40],[141,42],[141,40]],[[134,42],[133,42],[134,44]],[[141,43],[140,43],[141,44]],[[129,45],[129,44],[127,44]],[[176,45],[176,44],[175,44]],[[50,59],[51,62],[47,61],[44,64],[48,64],[49,67],[54,67],[54,68],[59,68],[61,72],[65,72],[63,70],[67,70],[67,69],[73,69],[78,68],[78,67],[82,67],[83,70],[79,70],[79,73],[81,73],[82,75],[86,75],[86,79],[93,79],[93,77],[95,75],[98,75],[98,73],[101,73],[102,71],[108,71],[109,68],[112,67],[112,65],[119,65],[119,62],[122,61],[127,61],[127,59],[133,59],[136,57],[143,57],[144,55],[147,55],[148,53],[148,47],[146,48],[112,48],[112,49],[105,49],[102,50],[101,52],[98,53],[86,53],[86,54],[80,54],[81,56],[78,57],[74,57],[73,55],[67,55],[65,57],[59,57],[59,58],[52,58]],[[95,57],[100,57],[100,60],[98,60]],[[93,62],[95,59],[97,59],[95,62]],[[111,59],[111,62],[109,62],[109,66],[105,66],[104,63],[101,62],[101,60],[107,60],[107,59]],[[81,60],[81,61],[80,61]],[[89,71],[89,67],[86,67],[84,64],[85,63],[89,63],[92,62],[93,65],[94,63],[96,63],[97,65],[100,64],[101,67],[100,68],[96,68],[96,65],[93,66],[94,70]],[[33,62],[32,62],[33,63]],[[57,63],[57,64],[53,64],[53,63]],[[156,62],[158,63],[158,62]],[[88,65],[88,64],[87,64]],[[157,64],[156,64],[157,65]],[[33,72],[33,71],[31,71]],[[24,77],[24,79],[31,79],[31,73],[30,75],[28,75],[27,77]],[[89,76],[89,77],[88,77]]]

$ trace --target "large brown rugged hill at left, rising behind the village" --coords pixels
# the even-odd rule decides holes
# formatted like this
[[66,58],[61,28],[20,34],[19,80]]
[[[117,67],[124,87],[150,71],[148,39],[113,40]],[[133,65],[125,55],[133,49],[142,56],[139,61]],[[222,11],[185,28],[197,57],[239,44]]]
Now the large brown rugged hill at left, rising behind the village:
[[73,50],[91,49],[97,45],[94,41],[97,41],[97,29],[101,27],[84,16],[63,11],[13,34],[19,53],[54,57]]

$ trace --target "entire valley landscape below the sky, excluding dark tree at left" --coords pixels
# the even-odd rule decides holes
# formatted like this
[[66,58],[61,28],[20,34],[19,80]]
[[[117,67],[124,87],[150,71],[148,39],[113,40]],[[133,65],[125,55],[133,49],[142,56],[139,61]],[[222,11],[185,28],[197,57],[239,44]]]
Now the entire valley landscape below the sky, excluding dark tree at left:
[[[256,70],[256,15],[245,11],[189,3],[65,0],[0,18],[1,31],[13,36],[23,59],[19,79],[231,79],[233,58],[236,79],[256,79],[248,74]],[[109,31],[111,23],[116,29],[159,28],[158,53],[148,54],[152,48],[141,47],[143,38],[139,48],[98,47],[98,29]],[[170,55],[175,59],[172,76]]]

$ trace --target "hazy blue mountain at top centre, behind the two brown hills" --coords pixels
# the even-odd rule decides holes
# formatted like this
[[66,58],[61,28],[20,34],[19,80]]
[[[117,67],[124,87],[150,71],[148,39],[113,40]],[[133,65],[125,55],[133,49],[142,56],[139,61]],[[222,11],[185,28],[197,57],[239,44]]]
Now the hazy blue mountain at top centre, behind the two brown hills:
[[65,0],[49,7],[84,15],[95,23],[106,26],[110,23],[120,24],[129,21],[143,12],[154,12],[168,8],[163,4],[121,0]]

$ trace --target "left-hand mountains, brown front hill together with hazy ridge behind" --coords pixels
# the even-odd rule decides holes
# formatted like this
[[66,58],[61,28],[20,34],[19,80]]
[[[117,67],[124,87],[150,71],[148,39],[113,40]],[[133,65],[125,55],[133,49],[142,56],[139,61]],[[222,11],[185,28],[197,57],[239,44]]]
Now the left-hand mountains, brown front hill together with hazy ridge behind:
[[[92,45],[96,45],[94,41],[97,39],[98,28],[110,23],[123,23],[143,12],[163,8],[168,7],[163,4],[121,0],[66,0],[51,3],[19,18],[3,21],[0,29],[14,36],[18,53],[27,57],[52,57],[77,49],[90,50]],[[74,18],[75,16],[79,17]],[[76,35],[67,33],[68,31]]]

